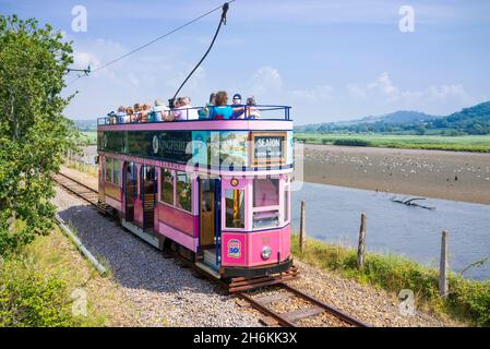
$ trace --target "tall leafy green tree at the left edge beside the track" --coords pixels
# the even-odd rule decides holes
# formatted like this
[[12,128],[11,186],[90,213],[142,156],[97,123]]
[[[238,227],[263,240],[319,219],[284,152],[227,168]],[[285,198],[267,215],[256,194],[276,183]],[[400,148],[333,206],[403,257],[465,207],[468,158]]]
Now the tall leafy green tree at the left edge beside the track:
[[0,16],[0,255],[52,229],[50,176],[74,145],[60,95],[71,53],[49,25]]

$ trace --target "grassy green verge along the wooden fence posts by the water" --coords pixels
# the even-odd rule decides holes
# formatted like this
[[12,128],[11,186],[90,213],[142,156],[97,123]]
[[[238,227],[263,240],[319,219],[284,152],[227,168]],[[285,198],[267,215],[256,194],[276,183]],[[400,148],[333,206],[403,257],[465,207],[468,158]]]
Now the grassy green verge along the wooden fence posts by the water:
[[355,250],[309,239],[301,253],[296,234],[291,237],[291,252],[308,264],[334,270],[362,284],[395,293],[410,289],[419,306],[429,308],[435,314],[449,315],[476,326],[490,326],[490,280],[477,281],[451,274],[450,294],[447,299],[442,299],[439,296],[438,270],[408,258],[368,253],[364,268],[358,270]]

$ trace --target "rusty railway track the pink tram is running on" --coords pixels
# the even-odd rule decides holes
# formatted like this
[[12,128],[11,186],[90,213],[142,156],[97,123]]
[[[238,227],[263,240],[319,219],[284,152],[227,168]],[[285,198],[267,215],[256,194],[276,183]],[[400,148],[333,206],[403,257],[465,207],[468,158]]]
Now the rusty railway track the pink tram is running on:
[[[53,180],[64,190],[83,198],[95,206],[104,215],[111,215],[110,207],[98,201],[98,193],[93,188],[64,174],[58,173],[52,176]],[[174,251],[166,251],[175,258],[183,263],[186,267],[194,269],[200,275],[204,272],[195,266],[191,261],[183,258]],[[287,284],[284,281],[291,280],[297,277],[298,270],[291,267],[280,278],[267,279],[266,277],[256,279],[232,278],[230,282],[205,275],[222,286],[228,293],[239,297],[252,308],[265,315],[263,323],[268,326],[280,325],[286,327],[302,326],[303,321],[313,320],[318,316],[326,317],[323,323],[335,324],[339,326],[369,327],[368,324],[358,321],[340,310],[328,305]],[[265,294],[264,294],[265,293]],[[280,311],[274,306],[274,303],[286,301],[295,302],[299,300],[304,306],[296,306],[294,310]],[[298,303],[298,301],[296,301]],[[328,321],[330,318],[330,321]],[[325,318],[324,318],[325,320]],[[332,321],[334,320],[334,321]]]

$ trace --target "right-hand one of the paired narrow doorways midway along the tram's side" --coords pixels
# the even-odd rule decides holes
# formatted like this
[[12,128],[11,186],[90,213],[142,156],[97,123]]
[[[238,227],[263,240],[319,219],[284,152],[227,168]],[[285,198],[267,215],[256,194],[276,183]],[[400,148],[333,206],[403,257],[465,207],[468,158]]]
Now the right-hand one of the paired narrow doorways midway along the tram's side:
[[143,229],[152,228],[155,219],[155,198],[157,192],[157,174],[153,166],[141,167],[141,202],[143,203]]

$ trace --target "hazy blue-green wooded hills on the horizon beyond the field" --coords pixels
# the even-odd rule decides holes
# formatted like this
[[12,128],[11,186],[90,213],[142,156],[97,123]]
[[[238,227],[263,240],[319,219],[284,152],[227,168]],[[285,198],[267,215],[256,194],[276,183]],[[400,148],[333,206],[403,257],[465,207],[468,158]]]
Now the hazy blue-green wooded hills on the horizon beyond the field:
[[490,101],[465,108],[450,116],[398,110],[351,121],[327,122],[296,127],[297,132],[378,132],[408,134],[490,134]]

